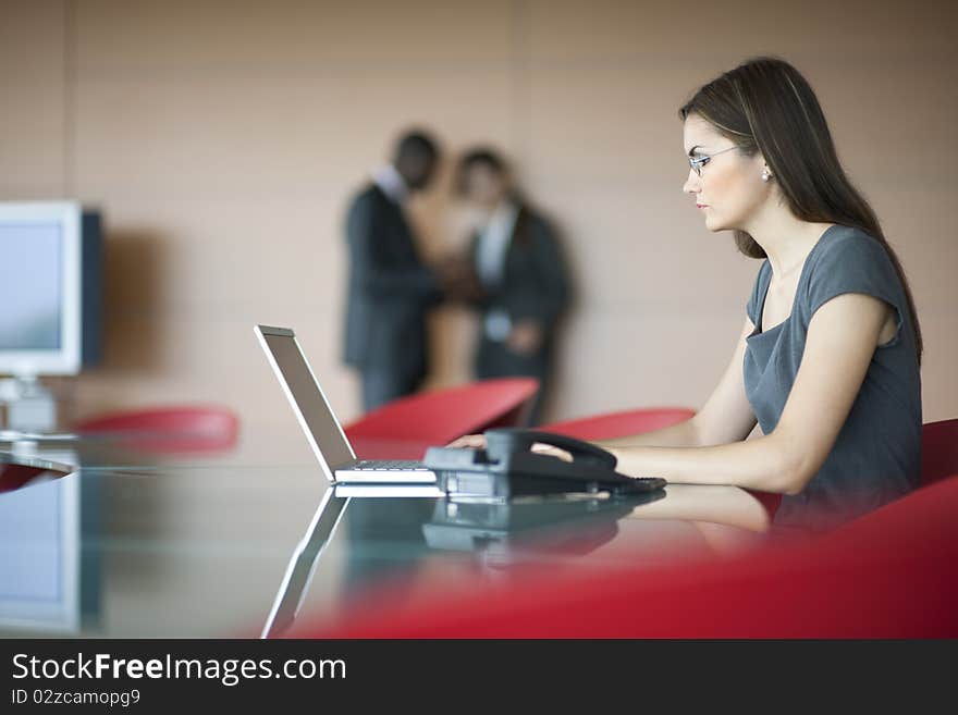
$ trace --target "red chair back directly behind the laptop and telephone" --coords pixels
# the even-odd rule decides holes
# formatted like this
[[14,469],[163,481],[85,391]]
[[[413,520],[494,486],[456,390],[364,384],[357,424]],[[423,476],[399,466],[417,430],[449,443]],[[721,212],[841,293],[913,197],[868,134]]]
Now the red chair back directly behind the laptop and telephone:
[[532,378],[503,378],[420,393],[368,412],[345,432],[358,443],[442,444],[492,427],[521,424],[538,390]]

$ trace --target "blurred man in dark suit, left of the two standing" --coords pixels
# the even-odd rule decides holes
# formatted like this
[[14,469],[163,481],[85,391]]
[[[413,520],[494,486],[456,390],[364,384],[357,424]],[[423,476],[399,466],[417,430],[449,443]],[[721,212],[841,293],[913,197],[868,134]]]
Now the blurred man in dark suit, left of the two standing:
[[465,270],[462,261],[427,266],[403,212],[429,186],[439,158],[428,134],[405,134],[348,209],[345,360],[360,373],[366,411],[418,389],[429,369],[427,312]]

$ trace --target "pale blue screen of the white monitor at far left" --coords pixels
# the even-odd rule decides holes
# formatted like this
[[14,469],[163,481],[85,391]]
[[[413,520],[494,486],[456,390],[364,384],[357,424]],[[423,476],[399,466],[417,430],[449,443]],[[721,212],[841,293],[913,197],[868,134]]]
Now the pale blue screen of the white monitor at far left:
[[0,221],[0,350],[61,347],[63,225]]

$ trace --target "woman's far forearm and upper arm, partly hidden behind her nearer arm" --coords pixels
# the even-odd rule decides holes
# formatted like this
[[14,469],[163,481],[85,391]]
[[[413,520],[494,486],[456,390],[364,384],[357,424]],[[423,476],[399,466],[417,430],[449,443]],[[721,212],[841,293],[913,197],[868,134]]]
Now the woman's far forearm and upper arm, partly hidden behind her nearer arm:
[[695,417],[654,432],[600,440],[595,444],[605,449],[640,446],[703,447],[745,440],[756,426],[756,416],[745,394],[741,368],[746,337],[752,330],[752,321],[746,318],[728,367]]

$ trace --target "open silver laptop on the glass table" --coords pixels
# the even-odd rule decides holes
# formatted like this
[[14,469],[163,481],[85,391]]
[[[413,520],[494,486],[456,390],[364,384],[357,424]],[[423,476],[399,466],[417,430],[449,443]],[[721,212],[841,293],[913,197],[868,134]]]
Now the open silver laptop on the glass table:
[[[357,459],[293,331],[270,325],[257,325],[255,330],[306,441],[337,496],[374,496],[372,492],[378,488],[396,484],[419,486],[408,496],[442,495],[435,472],[420,461]],[[361,490],[351,490],[352,485]]]

